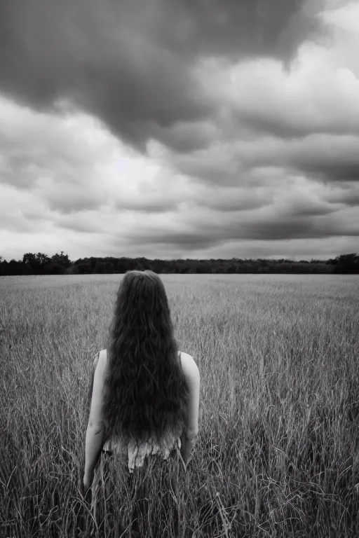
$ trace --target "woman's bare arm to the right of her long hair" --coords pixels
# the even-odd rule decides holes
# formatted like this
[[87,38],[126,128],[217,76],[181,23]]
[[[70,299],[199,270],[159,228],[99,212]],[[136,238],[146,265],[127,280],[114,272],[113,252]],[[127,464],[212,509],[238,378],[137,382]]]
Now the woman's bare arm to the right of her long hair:
[[198,436],[200,374],[194,358],[187,353],[182,353],[182,369],[189,389],[187,428],[181,437],[181,455],[184,464],[187,465]]

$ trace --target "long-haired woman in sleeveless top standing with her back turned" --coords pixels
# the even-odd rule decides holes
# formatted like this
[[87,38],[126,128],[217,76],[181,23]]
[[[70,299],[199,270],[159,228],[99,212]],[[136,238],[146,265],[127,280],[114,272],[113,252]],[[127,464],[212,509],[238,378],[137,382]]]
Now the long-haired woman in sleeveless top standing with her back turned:
[[198,435],[199,386],[194,359],[177,352],[163,282],[150,270],[128,271],[107,350],[94,361],[85,491],[101,456],[126,453],[130,474],[155,455],[174,455],[186,469]]

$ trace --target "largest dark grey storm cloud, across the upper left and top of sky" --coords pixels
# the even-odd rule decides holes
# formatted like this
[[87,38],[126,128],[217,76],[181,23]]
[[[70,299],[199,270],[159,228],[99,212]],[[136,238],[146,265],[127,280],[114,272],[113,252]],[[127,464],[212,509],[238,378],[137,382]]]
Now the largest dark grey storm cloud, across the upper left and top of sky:
[[[309,6],[313,5],[313,2]],[[144,151],[171,127],[211,116],[198,57],[274,57],[288,67],[304,40],[328,38],[304,0],[0,0],[0,92],[36,109],[59,99],[101,118]],[[166,137],[165,135],[168,135]]]

